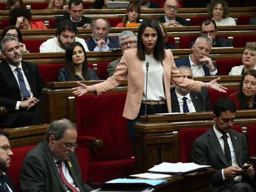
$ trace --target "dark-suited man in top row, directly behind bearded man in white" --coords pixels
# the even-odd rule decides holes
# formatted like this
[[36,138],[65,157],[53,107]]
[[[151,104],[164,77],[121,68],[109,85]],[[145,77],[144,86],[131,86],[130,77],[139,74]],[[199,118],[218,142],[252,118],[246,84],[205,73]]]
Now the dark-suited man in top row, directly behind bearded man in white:
[[69,14],[57,17],[54,28],[58,28],[59,23],[64,20],[70,20],[75,27],[79,28],[90,28],[90,23],[92,23],[92,19],[83,16],[82,0],[70,0]]

